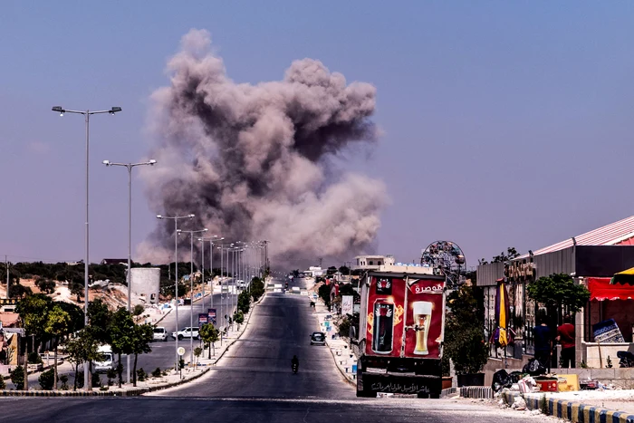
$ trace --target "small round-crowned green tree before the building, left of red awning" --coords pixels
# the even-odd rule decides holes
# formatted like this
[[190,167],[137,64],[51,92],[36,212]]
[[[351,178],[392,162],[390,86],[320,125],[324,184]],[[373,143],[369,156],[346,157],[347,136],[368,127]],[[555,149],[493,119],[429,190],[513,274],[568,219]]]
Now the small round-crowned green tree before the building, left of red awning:
[[528,296],[546,306],[549,316],[556,316],[556,325],[561,321],[562,313],[579,312],[590,300],[590,291],[581,284],[575,284],[570,274],[551,274],[537,279],[526,288]]

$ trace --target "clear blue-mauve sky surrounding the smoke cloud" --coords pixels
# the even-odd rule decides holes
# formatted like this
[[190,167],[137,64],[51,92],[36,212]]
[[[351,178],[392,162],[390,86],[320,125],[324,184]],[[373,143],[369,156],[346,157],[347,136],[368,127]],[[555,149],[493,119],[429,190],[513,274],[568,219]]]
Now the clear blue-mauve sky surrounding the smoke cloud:
[[[346,166],[383,179],[379,252],[437,239],[467,263],[634,214],[634,5],[626,2],[22,2],[0,14],[0,254],[83,256],[83,122],[91,120],[91,260],[127,254],[127,176],[147,157],[149,94],[190,28],[236,82],[311,57],[377,87],[384,131]],[[156,225],[140,180],[133,242]],[[341,257],[341,261],[349,257]]]

